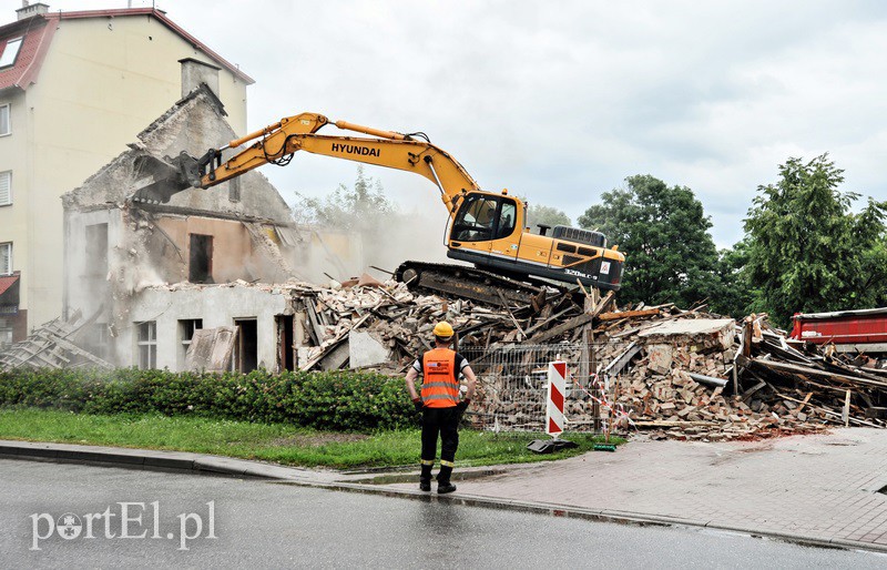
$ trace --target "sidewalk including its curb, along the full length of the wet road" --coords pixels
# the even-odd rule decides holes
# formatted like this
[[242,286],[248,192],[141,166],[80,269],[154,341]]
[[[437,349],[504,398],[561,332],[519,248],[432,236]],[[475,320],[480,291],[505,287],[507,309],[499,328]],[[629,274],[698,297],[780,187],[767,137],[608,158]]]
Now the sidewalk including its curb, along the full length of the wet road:
[[[340,474],[225,457],[0,441],[0,458],[102,462],[264,477],[294,485],[448,500],[595,520],[686,525],[887,552],[887,430],[755,442],[634,441],[547,464],[457,469],[449,496],[415,474]],[[394,482],[400,481],[400,482]],[[409,482],[404,482],[409,481]],[[887,492],[887,489],[885,489]]]

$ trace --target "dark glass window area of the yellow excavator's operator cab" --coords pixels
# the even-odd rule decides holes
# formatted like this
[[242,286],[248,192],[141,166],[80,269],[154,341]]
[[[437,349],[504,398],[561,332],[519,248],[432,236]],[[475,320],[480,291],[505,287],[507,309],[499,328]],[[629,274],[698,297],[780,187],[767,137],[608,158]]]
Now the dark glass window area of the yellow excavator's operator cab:
[[514,232],[517,212],[513,200],[469,194],[456,215],[452,238],[461,242],[485,242],[507,237]]

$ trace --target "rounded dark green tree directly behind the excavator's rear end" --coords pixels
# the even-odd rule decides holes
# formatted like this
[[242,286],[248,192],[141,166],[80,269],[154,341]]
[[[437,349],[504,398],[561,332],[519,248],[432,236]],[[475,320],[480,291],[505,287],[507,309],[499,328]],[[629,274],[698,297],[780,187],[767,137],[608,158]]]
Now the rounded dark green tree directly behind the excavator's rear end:
[[691,306],[718,291],[712,223],[686,186],[667,186],[651,175],[625,179],[602,203],[579,217],[625,253],[623,302]]

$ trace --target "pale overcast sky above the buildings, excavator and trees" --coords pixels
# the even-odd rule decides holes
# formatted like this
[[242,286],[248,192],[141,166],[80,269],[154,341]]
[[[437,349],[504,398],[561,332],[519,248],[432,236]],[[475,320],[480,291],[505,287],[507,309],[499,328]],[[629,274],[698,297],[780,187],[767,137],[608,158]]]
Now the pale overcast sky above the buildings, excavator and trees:
[[[843,190],[887,200],[887,2],[156,6],[256,80],[251,131],[303,111],[424,131],[486,190],[508,187],[574,221],[626,176],[652,174],[691,187],[726,247],[778,164],[824,152],[846,171]],[[443,220],[424,179],[368,170],[404,210],[438,208]],[[263,172],[292,201],[351,183],[355,164],[297,156]]]

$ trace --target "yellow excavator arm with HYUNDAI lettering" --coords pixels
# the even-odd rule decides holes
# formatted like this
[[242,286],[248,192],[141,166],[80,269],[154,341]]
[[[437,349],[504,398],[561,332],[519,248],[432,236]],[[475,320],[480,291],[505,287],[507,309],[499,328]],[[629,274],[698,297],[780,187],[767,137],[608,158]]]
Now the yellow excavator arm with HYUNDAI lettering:
[[[324,115],[302,113],[235,139],[221,149],[211,149],[201,157],[182,153],[170,161],[179,171],[173,176],[175,186],[177,191],[188,185],[208,189],[265,164],[287,164],[296,152],[305,151],[425,176],[439,189],[450,216],[455,214],[459,199],[465,193],[480,190],[456,159],[427,140],[421,140],[424,135],[420,133],[401,134],[337,121],[334,123],[337,128],[370,138],[316,134],[328,123]],[[223,160],[224,151],[254,140],[246,149]]]

